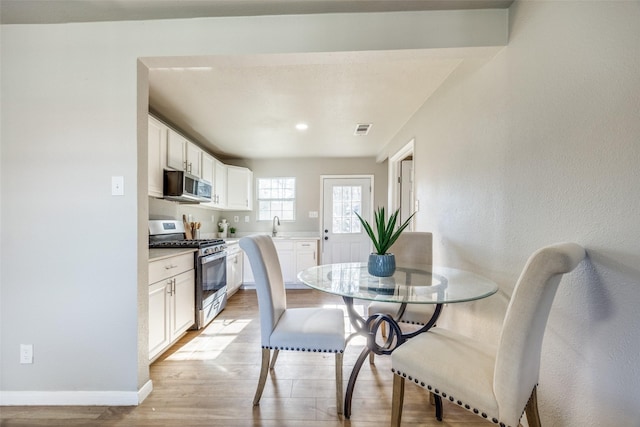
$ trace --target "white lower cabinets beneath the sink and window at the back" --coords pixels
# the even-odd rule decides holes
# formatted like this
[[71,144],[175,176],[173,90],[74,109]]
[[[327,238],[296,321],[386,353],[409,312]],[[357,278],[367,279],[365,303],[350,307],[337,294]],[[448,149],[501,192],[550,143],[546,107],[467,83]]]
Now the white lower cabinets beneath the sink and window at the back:
[[[298,285],[298,273],[314,265],[318,265],[318,240],[308,239],[276,239],[274,240],[282,278],[285,284]],[[254,285],[255,279],[251,271],[249,259],[244,256],[244,274],[242,283]]]

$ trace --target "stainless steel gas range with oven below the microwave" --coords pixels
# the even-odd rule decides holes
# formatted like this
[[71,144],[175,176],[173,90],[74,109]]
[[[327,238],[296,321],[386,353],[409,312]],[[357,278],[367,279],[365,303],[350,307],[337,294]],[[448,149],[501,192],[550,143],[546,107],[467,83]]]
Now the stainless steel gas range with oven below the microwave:
[[149,248],[197,248],[196,328],[204,328],[227,304],[227,246],[222,239],[186,239],[184,224],[174,220],[149,221]]

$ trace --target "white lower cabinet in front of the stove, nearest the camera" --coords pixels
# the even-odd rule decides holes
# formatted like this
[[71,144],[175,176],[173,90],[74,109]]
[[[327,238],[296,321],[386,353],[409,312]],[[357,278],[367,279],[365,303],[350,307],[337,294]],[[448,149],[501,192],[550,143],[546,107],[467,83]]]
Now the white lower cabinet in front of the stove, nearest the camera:
[[195,323],[193,253],[149,263],[149,360]]

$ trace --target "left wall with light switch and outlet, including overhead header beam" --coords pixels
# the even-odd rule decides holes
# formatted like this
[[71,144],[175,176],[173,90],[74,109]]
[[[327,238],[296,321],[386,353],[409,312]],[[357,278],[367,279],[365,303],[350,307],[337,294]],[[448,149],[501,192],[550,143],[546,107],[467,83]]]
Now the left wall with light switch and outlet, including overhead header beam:
[[[144,86],[144,65],[165,56],[502,45],[506,17],[3,25],[0,403],[136,403],[148,380],[139,58]],[[112,176],[124,177],[124,196],[110,195]],[[34,345],[34,364],[18,363],[21,343]]]

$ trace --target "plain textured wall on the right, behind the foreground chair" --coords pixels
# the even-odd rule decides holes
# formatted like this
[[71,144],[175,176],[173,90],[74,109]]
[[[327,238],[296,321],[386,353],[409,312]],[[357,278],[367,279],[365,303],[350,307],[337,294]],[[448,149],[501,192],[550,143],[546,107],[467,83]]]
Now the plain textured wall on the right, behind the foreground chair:
[[584,245],[546,330],[542,424],[638,426],[640,2],[519,2],[510,25],[508,46],[459,70],[388,147],[415,137],[434,262],[501,285],[442,322],[495,339],[527,257]]

